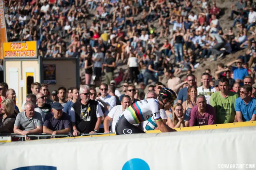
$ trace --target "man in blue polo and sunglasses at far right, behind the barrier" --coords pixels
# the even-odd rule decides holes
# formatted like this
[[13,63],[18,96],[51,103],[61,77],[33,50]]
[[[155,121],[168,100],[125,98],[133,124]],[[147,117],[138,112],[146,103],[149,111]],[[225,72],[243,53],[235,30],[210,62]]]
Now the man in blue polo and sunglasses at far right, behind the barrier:
[[252,98],[252,86],[245,84],[240,89],[240,97],[235,101],[238,122],[256,120],[256,99]]

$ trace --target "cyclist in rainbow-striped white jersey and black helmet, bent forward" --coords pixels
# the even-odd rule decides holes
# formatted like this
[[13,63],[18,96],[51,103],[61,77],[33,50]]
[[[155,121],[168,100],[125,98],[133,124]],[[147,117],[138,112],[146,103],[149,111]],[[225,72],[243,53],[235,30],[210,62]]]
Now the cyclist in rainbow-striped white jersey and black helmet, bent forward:
[[116,134],[134,134],[134,133],[145,133],[143,130],[133,124],[141,123],[145,120],[150,119],[152,116],[161,132],[175,132],[176,130],[169,128],[163,123],[160,116],[161,109],[169,109],[177,96],[175,92],[169,88],[162,88],[159,91],[159,98],[140,100],[131,106],[129,106],[120,115],[116,123]]

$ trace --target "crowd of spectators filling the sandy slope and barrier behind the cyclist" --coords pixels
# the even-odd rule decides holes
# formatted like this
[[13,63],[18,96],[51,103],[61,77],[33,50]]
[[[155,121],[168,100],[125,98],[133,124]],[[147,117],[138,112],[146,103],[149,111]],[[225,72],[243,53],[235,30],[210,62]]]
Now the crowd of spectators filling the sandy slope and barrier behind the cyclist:
[[[207,0],[9,0],[4,5],[9,41],[35,40],[42,57],[79,57],[86,85],[49,94],[46,84],[33,83],[19,113],[15,91],[0,84],[1,133],[114,132],[124,109],[157,98],[162,87],[178,96],[172,108],[161,111],[171,128],[256,119],[256,1],[231,5],[230,28],[219,21],[225,11]],[[244,55],[195,77],[202,61],[241,50]],[[125,64],[128,69],[115,76]],[[153,119],[138,126],[157,128]]]

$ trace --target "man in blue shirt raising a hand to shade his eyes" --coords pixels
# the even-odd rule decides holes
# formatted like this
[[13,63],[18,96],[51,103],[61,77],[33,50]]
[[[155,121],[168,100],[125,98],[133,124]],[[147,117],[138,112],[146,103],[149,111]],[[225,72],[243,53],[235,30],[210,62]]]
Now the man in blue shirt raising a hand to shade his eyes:
[[232,67],[232,71],[233,71],[233,79],[240,83],[240,85],[243,85],[243,79],[245,76],[248,75],[248,71],[246,68],[242,67],[242,60],[238,59],[238,60],[234,60],[230,63],[227,64],[227,66],[231,66],[233,63],[237,63],[237,67]]

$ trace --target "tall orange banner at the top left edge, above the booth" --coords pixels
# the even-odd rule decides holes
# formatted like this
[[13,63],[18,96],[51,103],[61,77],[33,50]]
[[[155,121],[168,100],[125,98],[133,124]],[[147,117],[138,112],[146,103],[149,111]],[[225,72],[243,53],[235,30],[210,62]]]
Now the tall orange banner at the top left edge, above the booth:
[[3,0],[0,0],[0,59],[3,59],[3,43],[7,42],[5,18],[3,11]]

